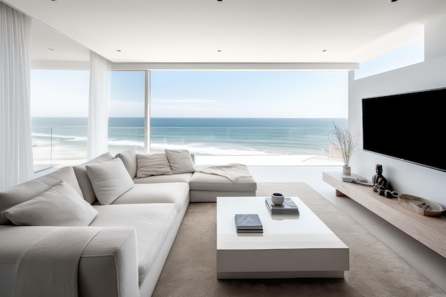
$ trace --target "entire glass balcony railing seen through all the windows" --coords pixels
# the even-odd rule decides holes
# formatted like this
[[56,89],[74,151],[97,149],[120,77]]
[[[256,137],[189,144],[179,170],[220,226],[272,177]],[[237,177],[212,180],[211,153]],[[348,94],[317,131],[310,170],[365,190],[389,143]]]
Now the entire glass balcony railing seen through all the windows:
[[[306,155],[338,160],[331,154],[328,133],[332,127],[152,127],[150,152],[185,149],[205,156]],[[76,165],[87,160],[87,127],[33,129],[34,170]],[[108,150],[112,155],[135,147],[145,152],[143,127],[110,127]]]

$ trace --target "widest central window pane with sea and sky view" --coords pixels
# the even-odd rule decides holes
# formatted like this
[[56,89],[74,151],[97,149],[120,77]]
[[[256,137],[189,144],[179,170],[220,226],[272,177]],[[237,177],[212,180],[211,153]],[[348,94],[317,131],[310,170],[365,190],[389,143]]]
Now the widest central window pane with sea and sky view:
[[346,71],[152,71],[150,152],[327,157]]

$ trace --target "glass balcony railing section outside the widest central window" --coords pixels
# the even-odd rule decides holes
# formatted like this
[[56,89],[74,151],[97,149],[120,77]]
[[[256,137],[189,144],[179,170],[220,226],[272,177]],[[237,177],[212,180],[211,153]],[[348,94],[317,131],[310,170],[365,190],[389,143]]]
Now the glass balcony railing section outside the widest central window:
[[184,147],[204,155],[320,155],[332,128],[153,127],[150,148]]

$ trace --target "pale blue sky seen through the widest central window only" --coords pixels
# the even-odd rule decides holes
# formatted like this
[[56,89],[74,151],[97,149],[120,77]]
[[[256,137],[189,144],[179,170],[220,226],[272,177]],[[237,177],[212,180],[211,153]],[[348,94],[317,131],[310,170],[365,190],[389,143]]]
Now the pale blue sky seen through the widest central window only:
[[157,71],[152,117],[346,118],[346,71]]

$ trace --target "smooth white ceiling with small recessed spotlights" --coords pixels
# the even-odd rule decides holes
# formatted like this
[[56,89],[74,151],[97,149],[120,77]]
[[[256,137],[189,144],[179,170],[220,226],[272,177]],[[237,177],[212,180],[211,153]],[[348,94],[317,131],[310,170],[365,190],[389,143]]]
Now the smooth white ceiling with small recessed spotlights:
[[359,63],[446,16],[445,0],[2,1],[72,39],[36,26],[43,59],[79,43],[115,63]]

